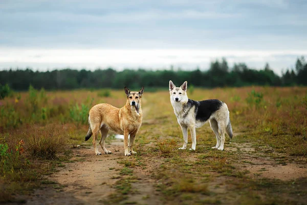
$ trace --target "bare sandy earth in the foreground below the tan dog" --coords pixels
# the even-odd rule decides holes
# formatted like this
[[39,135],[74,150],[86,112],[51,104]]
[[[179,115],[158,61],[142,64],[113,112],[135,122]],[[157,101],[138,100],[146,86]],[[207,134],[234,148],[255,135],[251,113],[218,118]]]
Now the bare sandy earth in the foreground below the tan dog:
[[[74,149],[75,162],[65,163],[65,168],[47,178],[57,182],[61,189],[37,190],[27,204],[104,204],[109,195],[117,192],[114,187],[123,168],[117,161],[127,158],[120,140],[113,140],[106,148],[112,154],[95,155],[92,146]],[[159,204],[153,181],[138,169],[134,169],[134,176],[138,179],[132,184],[134,193],[128,194],[125,201]]]

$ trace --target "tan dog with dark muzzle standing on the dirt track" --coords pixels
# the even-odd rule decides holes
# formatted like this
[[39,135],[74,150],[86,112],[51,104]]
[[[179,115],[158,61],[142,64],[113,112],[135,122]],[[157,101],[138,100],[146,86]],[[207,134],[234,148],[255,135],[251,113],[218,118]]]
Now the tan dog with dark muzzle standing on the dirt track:
[[[99,144],[105,154],[112,153],[104,147],[104,140],[109,130],[124,135],[125,156],[136,154],[136,152],[133,151],[132,146],[135,136],[142,125],[143,113],[141,108],[141,98],[143,92],[144,86],[139,92],[130,92],[130,90],[125,87],[127,101],[126,105],[121,109],[109,104],[98,104],[90,110],[89,131],[87,131],[85,141],[90,139],[93,135],[93,146],[96,155],[101,154],[96,145],[99,130],[101,133]],[[128,135],[130,135],[129,146]]]

